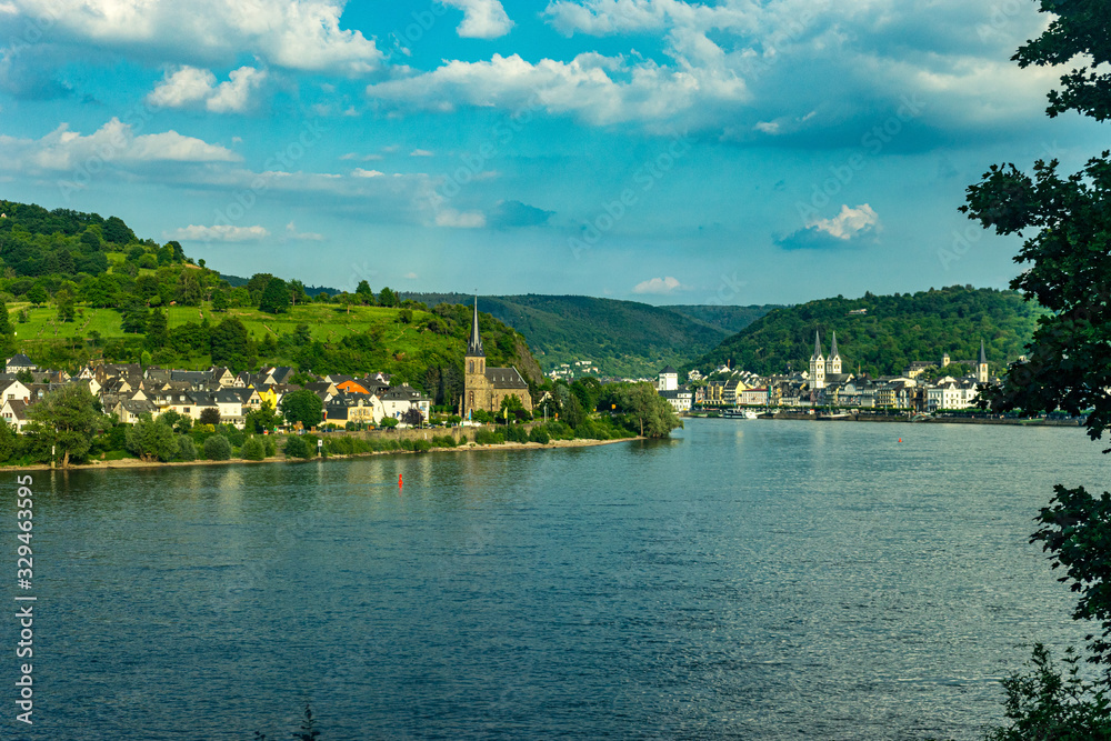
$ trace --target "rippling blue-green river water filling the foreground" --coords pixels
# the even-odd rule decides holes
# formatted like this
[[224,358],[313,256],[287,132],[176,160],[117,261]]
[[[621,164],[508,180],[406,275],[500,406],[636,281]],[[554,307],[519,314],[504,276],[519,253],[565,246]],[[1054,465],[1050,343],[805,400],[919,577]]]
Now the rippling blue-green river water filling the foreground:
[[585,449],[37,472],[36,725],[7,712],[0,735],[287,738],[310,703],[321,741],[978,738],[1032,642],[1082,639],[1027,539],[1053,483],[1101,490],[1099,450],[688,420]]

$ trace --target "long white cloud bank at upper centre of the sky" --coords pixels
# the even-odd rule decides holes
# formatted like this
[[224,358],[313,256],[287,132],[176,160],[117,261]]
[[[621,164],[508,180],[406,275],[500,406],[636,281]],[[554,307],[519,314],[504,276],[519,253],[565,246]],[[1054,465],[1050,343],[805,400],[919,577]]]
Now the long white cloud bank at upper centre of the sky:
[[439,69],[367,88],[379,101],[438,111],[459,104],[574,113],[590,123],[665,121],[748,98],[744,82],[718,69],[677,70],[651,61],[583,53],[570,62],[494,54],[488,62],[449,61]]

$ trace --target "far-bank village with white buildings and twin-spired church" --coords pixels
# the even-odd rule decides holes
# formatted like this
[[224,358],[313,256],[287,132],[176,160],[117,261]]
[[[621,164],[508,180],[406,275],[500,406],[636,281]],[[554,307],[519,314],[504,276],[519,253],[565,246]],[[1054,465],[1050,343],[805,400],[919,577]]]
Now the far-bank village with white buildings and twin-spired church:
[[722,366],[708,373],[691,370],[687,383],[679,371],[667,367],[657,381],[659,394],[677,413],[744,407],[795,409],[875,409],[905,412],[951,412],[975,407],[980,389],[999,379],[990,375],[987,351],[973,360],[914,361],[901,374],[869,378],[844,372],[847,363],[832,334],[830,352],[823,351],[820,333],[809,369],[760,377]]

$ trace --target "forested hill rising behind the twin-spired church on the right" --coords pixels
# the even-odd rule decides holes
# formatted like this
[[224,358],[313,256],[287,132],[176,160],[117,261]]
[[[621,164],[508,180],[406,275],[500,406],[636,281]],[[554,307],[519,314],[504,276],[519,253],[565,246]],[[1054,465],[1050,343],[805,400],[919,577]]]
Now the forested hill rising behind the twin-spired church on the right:
[[[851,313],[865,310],[867,313]],[[708,369],[731,360],[757,373],[782,373],[790,364],[805,370],[821,331],[829,353],[837,332],[844,370],[873,375],[902,372],[914,360],[954,361],[979,356],[987,344],[992,372],[1025,352],[1037,318],[1044,313],[1014,291],[952,286],[918,293],[860,299],[822,299],[777,309],[727,339],[689,368]]]

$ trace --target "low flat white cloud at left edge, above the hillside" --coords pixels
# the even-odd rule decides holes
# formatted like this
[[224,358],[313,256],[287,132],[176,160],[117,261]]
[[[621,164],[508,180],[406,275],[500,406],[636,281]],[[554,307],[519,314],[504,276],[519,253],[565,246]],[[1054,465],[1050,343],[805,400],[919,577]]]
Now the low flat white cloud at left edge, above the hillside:
[[62,123],[41,139],[0,136],[0,159],[8,170],[91,172],[108,166],[133,167],[148,162],[236,162],[233,151],[177,131],[134,136],[119,119],[91,134],[70,131]]

